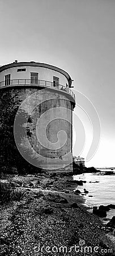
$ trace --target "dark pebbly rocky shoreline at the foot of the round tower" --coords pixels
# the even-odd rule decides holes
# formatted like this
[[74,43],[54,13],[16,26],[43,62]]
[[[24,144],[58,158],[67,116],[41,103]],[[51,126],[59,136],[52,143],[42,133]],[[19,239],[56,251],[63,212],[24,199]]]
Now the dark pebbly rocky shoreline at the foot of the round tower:
[[24,191],[22,200],[0,204],[1,256],[115,254],[100,218],[83,205],[73,176],[6,175],[1,183]]

